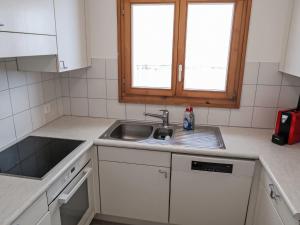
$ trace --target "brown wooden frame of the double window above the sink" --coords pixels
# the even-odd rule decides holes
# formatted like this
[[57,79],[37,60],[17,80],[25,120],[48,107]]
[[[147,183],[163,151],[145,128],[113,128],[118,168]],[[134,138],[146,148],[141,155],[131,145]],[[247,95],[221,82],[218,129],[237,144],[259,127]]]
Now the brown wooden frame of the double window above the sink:
[[[130,4],[175,3],[175,26],[172,65],[172,88],[145,89],[131,87]],[[177,81],[177,66],[184,67],[187,4],[235,3],[227,88],[225,92],[185,91]],[[252,0],[117,0],[119,101],[123,103],[193,105],[239,108],[245,67]],[[180,10],[180,11],[179,11]],[[178,26],[176,26],[178,25]],[[184,31],[184,32],[182,32]],[[184,73],[183,79],[184,80]]]

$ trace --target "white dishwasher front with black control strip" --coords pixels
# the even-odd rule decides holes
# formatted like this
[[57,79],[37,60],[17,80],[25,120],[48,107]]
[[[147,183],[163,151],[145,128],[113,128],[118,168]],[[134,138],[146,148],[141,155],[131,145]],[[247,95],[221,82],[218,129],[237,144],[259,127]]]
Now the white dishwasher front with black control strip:
[[244,225],[255,161],[173,154],[170,223]]

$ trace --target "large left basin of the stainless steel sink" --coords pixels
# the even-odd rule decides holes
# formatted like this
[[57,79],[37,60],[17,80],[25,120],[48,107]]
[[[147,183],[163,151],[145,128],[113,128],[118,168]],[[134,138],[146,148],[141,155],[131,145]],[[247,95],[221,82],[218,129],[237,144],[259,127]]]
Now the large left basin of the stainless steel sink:
[[110,134],[111,138],[120,140],[142,140],[149,138],[152,134],[153,126],[139,124],[120,124]]

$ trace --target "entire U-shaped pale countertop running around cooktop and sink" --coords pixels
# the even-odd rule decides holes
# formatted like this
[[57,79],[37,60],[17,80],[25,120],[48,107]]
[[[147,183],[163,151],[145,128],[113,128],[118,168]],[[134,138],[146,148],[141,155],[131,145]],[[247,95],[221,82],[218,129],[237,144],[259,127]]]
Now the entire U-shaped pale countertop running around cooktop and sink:
[[220,127],[226,150],[193,149],[183,146],[149,145],[97,139],[114,121],[65,116],[33,132],[31,135],[86,140],[86,142],[63,159],[43,180],[0,175],[0,224],[11,224],[93,144],[259,159],[277,185],[293,215],[300,219],[300,144],[283,147],[274,145],[270,141],[272,130],[236,127]]

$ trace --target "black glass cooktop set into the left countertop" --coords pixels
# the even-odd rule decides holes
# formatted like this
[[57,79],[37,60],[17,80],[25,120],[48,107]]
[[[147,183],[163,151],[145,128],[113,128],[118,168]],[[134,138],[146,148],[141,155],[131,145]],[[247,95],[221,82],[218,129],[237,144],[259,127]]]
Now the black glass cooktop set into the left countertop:
[[29,136],[0,152],[0,173],[41,179],[82,143]]

